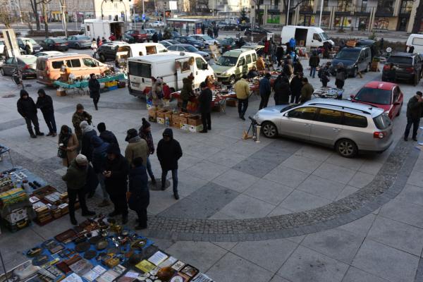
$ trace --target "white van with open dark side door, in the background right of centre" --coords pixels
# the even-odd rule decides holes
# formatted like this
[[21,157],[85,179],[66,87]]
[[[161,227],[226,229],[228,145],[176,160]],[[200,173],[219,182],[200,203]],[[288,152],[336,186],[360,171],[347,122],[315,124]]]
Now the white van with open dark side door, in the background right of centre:
[[297,46],[302,47],[317,48],[323,46],[324,42],[335,44],[320,27],[301,25],[286,25],[282,27],[281,43],[285,44],[291,38],[295,38]]

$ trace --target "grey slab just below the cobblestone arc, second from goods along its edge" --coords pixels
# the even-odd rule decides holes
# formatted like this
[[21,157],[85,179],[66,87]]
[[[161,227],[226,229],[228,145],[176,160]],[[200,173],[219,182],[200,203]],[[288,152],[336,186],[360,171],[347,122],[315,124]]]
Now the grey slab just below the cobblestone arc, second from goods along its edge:
[[307,235],[301,245],[324,255],[350,264],[357,253],[364,236],[333,228]]

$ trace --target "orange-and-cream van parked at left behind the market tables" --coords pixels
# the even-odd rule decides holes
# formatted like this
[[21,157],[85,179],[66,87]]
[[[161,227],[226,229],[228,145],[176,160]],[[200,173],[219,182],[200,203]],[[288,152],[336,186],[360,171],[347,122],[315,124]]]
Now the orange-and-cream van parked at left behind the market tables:
[[37,82],[44,85],[53,85],[60,78],[61,66],[68,66],[75,77],[88,76],[90,73],[99,75],[104,73],[109,66],[93,59],[89,55],[63,54],[40,56],[37,58]]

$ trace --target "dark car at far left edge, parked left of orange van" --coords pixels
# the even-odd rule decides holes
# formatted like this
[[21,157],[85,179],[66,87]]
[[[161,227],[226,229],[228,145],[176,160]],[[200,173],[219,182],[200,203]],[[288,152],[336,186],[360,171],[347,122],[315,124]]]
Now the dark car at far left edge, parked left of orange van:
[[35,78],[35,66],[37,57],[33,55],[21,55],[6,59],[3,65],[0,66],[1,75],[12,75],[13,70],[18,68],[22,72],[22,78]]

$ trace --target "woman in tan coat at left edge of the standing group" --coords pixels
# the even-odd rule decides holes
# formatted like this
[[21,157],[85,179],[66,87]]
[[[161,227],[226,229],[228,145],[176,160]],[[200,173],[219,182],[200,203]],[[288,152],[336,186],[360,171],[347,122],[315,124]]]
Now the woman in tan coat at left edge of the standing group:
[[59,150],[57,155],[62,159],[63,166],[68,167],[78,155],[78,137],[72,133],[68,125],[62,125],[59,133]]

